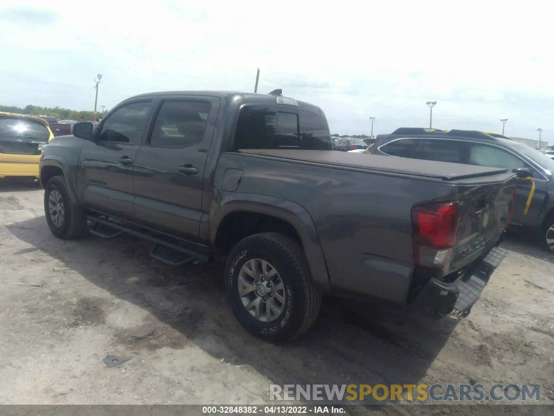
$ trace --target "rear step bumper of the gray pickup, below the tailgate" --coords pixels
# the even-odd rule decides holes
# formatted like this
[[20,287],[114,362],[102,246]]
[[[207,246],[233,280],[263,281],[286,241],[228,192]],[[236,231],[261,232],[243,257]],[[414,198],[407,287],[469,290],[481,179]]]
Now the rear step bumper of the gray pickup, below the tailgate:
[[432,278],[410,305],[411,310],[435,319],[440,319],[453,311],[467,316],[507,253],[504,248],[494,247],[472,268],[469,276],[460,277],[454,283],[447,284]]

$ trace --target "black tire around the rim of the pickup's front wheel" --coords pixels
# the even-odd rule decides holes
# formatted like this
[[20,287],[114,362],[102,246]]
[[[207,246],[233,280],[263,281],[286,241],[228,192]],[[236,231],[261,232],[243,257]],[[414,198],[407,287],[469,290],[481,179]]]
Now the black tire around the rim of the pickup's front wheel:
[[[65,218],[61,226],[57,226],[50,217],[48,210],[48,200],[50,198],[50,192],[57,190],[61,195],[61,201],[64,204]],[[78,239],[86,230],[86,214],[85,211],[76,202],[71,200],[70,190],[65,184],[63,176],[53,176],[48,181],[44,190],[44,214],[46,215],[46,221],[50,227],[50,231],[56,237],[62,240]]]

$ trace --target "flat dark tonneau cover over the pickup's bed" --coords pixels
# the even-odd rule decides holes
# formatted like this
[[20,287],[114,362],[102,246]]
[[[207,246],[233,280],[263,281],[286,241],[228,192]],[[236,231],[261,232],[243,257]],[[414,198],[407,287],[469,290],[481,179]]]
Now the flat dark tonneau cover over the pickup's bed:
[[394,156],[378,156],[365,153],[348,153],[337,150],[244,149],[239,150],[239,152],[310,163],[324,163],[328,165],[370,169],[388,173],[426,176],[446,181],[496,175],[507,172],[507,169],[489,168],[487,166],[396,158]]

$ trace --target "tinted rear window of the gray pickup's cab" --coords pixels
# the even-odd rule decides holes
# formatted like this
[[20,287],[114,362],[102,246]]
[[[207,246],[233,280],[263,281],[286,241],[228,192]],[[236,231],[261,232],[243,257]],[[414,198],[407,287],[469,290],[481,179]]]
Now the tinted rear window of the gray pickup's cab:
[[309,109],[276,111],[245,106],[240,111],[234,149],[331,150],[331,134],[322,114]]

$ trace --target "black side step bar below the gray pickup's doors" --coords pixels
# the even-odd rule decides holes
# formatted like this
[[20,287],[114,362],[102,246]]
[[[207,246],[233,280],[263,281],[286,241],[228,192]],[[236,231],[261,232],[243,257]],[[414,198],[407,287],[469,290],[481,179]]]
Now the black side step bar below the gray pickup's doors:
[[132,230],[129,227],[116,224],[110,220],[105,220],[92,215],[87,216],[87,219],[93,223],[90,228],[91,234],[111,239],[112,237],[125,232],[126,234],[139,237],[139,239],[153,242],[154,246],[150,251],[150,256],[158,261],[161,261],[162,263],[165,263],[166,265],[181,266],[194,260],[207,263],[209,260],[209,256],[203,253],[188,250],[188,248],[163,241],[151,235],[145,234],[144,232]]

